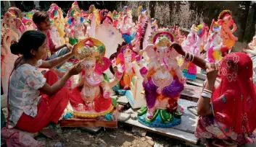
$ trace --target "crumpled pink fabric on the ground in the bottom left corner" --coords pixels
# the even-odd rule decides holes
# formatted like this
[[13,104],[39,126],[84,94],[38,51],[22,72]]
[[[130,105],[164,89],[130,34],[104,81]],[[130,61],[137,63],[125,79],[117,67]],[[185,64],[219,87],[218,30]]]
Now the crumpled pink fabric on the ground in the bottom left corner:
[[32,136],[19,132],[15,128],[1,128],[1,141],[7,143],[9,147],[41,147],[45,143],[36,141]]

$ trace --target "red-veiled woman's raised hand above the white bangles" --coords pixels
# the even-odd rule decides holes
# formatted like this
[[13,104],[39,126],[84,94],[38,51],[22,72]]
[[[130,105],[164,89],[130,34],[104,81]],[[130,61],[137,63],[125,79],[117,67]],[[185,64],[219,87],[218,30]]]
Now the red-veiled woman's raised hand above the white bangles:
[[211,90],[218,76],[218,63],[211,63],[210,65],[208,64],[208,66],[210,66],[210,68],[206,69],[206,76],[207,76],[207,82],[210,86],[209,87],[210,89],[208,90]]

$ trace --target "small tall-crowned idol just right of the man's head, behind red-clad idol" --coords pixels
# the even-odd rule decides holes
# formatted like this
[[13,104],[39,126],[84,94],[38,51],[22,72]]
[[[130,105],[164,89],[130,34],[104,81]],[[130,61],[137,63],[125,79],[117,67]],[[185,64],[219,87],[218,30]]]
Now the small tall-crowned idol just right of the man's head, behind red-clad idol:
[[65,26],[71,45],[85,38],[86,28],[83,25],[83,19],[78,2],[75,1],[67,12],[67,24]]

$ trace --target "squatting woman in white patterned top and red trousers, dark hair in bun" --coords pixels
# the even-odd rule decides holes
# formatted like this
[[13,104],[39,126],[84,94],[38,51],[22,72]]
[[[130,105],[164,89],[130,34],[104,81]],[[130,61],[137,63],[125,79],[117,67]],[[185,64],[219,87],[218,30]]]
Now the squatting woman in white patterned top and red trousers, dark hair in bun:
[[53,71],[44,75],[37,68],[53,68],[75,55],[73,51],[61,57],[42,61],[46,56],[46,35],[38,31],[27,31],[19,43],[12,43],[13,54],[21,54],[9,80],[9,122],[8,128],[17,128],[29,133],[40,131],[49,138],[56,138],[45,128],[50,122],[58,123],[67,107],[70,92],[64,87],[70,76],[80,73],[80,63],[70,68],[58,80]]

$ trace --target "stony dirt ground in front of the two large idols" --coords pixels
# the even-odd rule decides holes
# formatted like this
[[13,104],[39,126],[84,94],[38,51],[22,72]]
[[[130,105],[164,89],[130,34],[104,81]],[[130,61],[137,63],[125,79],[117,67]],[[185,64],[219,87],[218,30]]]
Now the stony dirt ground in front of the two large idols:
[[[59,139],[51,140],[39,135],[36,137],[37,141],[44,141],[48,147],[65,147],[65,146],[124,146],[124,147],[161,147],[161,146],[184,146],[185,143],[176,139],[168,138],[155,133],[147,132],[144,135],[139,135],[132,130],[131,126],[119,126],[115,129],[99,130],[98,133],[89,133],[87,130],[81,128],[58,128]],[[143,137],[144,136],[144,137]]]

